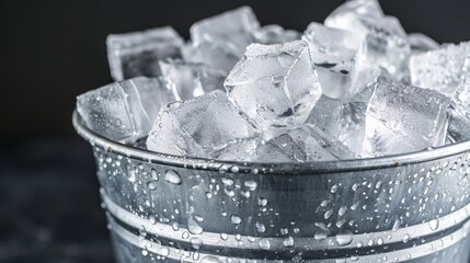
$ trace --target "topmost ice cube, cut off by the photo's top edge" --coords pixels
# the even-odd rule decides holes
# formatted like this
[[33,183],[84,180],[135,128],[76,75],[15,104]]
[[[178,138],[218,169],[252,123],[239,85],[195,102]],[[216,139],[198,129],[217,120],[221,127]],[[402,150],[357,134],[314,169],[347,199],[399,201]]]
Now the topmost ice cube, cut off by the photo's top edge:
[[346,1],[324,20],[324,25],[355,32],[362,27],[360,22],[357,21],[359,16],[382,18],[383,11],[377,0]]

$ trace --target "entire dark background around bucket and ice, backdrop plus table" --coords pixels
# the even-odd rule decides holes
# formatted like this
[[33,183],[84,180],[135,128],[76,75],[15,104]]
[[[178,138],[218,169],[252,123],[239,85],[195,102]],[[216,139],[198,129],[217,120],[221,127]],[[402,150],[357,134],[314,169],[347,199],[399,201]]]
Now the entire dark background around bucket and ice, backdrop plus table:
[[[262,24],[302,31],[342,0],[0,1],[0,262],[107,262],[91,150],[71,127],[74,98],[111,81],[110,33],[173,25],[242,4]],[[470,39],[468,1],[382,0],[408,32]]]

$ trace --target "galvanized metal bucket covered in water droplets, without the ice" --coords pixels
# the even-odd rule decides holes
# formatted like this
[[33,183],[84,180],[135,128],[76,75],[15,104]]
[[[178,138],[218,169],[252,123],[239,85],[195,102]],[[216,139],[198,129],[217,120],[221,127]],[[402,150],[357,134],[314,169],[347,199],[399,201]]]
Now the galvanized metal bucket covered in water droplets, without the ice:
[[468,262],[470,141],[316,163],[92,146],[118,262]]

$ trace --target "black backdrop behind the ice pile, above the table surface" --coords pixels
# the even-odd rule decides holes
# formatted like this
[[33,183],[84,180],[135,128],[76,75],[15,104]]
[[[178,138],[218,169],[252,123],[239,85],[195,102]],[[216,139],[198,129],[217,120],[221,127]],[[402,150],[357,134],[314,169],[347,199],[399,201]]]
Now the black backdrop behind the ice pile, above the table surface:
[[[74,96],[111,81],[110,33],[173,25],[187,37],[202,18],[250,4],[263,24],[302,31],[342,0],[0,1],[0,138],[73,136]],[[382,0],[408,32],[438,42],[470,39],[469,1]]]

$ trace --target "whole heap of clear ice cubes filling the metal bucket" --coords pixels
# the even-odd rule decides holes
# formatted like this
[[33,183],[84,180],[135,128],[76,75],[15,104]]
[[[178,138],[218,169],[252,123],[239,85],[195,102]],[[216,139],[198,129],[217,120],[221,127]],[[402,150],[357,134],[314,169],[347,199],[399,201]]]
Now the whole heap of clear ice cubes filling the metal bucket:
[[107,38],[117,81],[78,96],[85,124],[149,150],[232,161],[398,155],[470,139],[470,43],[406,34],[351,0],[303,34],[239,8]]

